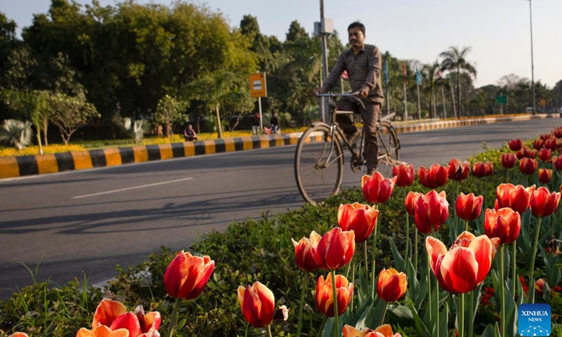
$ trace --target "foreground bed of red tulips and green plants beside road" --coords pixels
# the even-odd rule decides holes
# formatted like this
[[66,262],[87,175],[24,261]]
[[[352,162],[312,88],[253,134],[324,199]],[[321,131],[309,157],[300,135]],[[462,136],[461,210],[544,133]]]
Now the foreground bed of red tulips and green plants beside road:
[[208,234],[195,256],[118,268],[103,292],[35,284],[0,303],[0,335],[516,336],[516,308],[549,303],[556,336],[561,137],[365,176],[322,206]]

